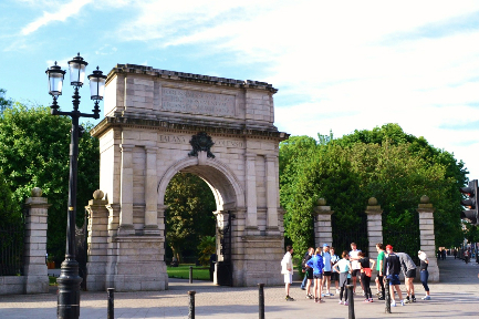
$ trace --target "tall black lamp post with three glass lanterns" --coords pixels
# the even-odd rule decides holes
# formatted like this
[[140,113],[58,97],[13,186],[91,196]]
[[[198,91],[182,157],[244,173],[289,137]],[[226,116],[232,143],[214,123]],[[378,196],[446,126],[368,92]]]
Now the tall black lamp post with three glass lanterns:
[[72,137],[70,144],[70,182],[69,182],[69,208],[67,208],[67,225],[66,225],[66,251],[65,260],[62,263],[60,277],[56,279],[59,284],[59,301],[56,316],[60,319],[77,319],[80,317],[80,284],[82,278],[79,276],[79,263],[75,260],[75,219],[76,219],[76,171],[79,158],[79,119],[93,117],[100,119],[98,103],[103,100],[106,75],[102,71],[93,71],[88,75],[91,97],[95,101],[95,106],[92,110],[93,114],[85,114],[79,111],[80,95],[79,88],[83,85],[85,79],[85,68],[88,63],[80,56],[69,61],[70,66],[70,84],[75,88],[73,94],[73,111],[61,112],[56,103],[58,96],[62,95],[63,79],[65,71],[59,65],[50,66],[45,73],[49,75],[49,93],[53,96],[53,104],[50,106],[53,115],[67,115],[72,117]]

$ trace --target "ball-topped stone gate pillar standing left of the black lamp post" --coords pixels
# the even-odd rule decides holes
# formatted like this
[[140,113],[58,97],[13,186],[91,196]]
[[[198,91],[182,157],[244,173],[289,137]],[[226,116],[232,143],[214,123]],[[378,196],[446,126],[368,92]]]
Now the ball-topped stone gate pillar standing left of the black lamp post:
[[42,196],[42,189],[32,189],[32,197],[27,198],[25,207],[25,241],[23,248],[23,269],[25,276],[24,294],[49,291],[46,270],[46,228],[49,207],[48,199]]

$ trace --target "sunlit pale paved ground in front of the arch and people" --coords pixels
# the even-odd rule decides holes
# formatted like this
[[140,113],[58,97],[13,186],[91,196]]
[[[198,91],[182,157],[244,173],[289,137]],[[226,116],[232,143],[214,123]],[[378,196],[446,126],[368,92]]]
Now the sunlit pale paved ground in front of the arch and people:
[[[479,265],[466,265],[454,257],[438,264],[441,282],[429,285],[431,300],[420,300],[424,296],[420,282],[415,282],[418,301],[392,307],[391,315],[385,313],[384,302],[363,303],[363,297],[355,296],[356,318],[479,318]],[[284,287],[265,287],[265,318],[347,318],[348,307],[337,305],[337,296],[315,303],[305,299],[305,292],[299,287],[300,282],[294,282],[291,288],[291,296],[296,301],[284,300]],[[405,286],[400,287],[404,291]],[[197,291],[196,318],[259,317],[258,288],[254,287],[218,287],[204,281],[190,285],[187,280],[171,279],[169,288],[166,291],[115,292],[115,318],[188,318],[188,290]],[[375,290],[374,287],[373,292]],[[83,291],[80,318],[106,318],[106,292]],[[56,318],[55,290],[41,295],[0,296],[0,318]]]

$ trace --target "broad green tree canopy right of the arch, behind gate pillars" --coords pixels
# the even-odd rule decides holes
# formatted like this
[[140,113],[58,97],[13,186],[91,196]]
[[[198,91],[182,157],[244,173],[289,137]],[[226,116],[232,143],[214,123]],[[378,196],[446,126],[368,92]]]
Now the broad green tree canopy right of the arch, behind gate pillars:
[[[459,187],[467,181],[462,162],[397,124],[333,134],[292,136],[280,144],[280,193],[285,236],[298,251],[313,245],[312,212],[324,197],[335,212],[335,230],[357,227],[367,199],[376,197],[386,215],[384,227],[406,227],[421,195],[435,207],[438,246],[458,244]],[[341,229],[337,229],[340,227]]]

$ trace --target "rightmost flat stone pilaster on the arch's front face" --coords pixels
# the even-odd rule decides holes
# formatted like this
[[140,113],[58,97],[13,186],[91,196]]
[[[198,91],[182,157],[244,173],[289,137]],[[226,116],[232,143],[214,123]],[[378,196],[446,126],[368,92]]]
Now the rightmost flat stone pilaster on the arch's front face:
[[[277,188],[277,169],[274,163],[278,158],[275,155],[265,155],[265,178],[267,178],[267,229],[269,233],[278,233],[278,188]],[[272,235],[272,234],[270,234]],[[277,235],[280,235],[279,233]]]

